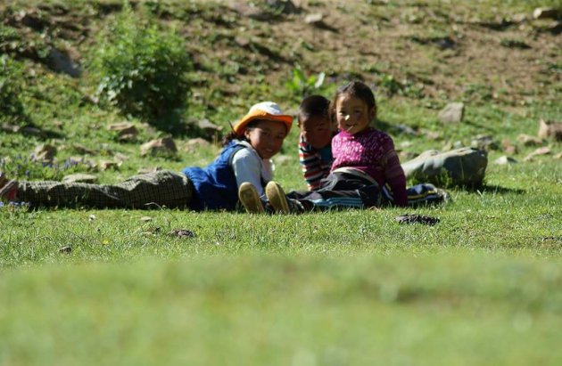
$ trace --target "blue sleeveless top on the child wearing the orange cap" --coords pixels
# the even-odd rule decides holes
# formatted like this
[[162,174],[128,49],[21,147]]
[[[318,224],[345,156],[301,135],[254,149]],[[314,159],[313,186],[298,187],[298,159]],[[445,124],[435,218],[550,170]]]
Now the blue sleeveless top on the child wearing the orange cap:
[[205,209],[234,210],[238,200],[238,185],[230,163],[237,150],[246,147],[233,140],[207,167],[186,167],[183,173],[194,184],[194,196],[189,207],[196,211]]

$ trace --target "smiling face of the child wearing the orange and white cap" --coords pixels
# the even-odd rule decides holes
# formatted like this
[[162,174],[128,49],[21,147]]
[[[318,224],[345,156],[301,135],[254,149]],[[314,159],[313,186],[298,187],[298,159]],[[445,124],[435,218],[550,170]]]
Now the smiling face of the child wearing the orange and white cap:
[[281,150],[287,129],[283,122],[264,120],[252,129],[246,129],[244,136],[261,159],[270,159]]

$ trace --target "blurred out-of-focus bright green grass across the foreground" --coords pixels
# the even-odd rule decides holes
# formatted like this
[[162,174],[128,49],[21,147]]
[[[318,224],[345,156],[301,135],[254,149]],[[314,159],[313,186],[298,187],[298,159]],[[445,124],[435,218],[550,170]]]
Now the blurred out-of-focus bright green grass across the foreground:
[[560,281],[466,250],[7,272],[0,362],[557,364]]

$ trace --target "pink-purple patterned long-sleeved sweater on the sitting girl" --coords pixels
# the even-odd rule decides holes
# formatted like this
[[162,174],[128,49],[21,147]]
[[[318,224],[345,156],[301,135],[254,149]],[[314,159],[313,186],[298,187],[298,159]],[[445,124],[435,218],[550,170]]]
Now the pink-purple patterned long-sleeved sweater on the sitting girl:
[[334,163],[338,167],[353,167],[367,173],[380,187],[388,184],[398,206],[408,205],[406,175],[394,150],[393,139],[375,128],[366,128],[358,134],[345,131],[332,139]]

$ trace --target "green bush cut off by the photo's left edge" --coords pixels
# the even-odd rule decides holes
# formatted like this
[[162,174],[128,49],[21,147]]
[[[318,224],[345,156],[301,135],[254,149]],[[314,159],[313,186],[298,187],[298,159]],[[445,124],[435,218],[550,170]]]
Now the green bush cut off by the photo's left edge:
[[0,121],[26,119],[20,100],[22,68],[7,55],[0,57]]

